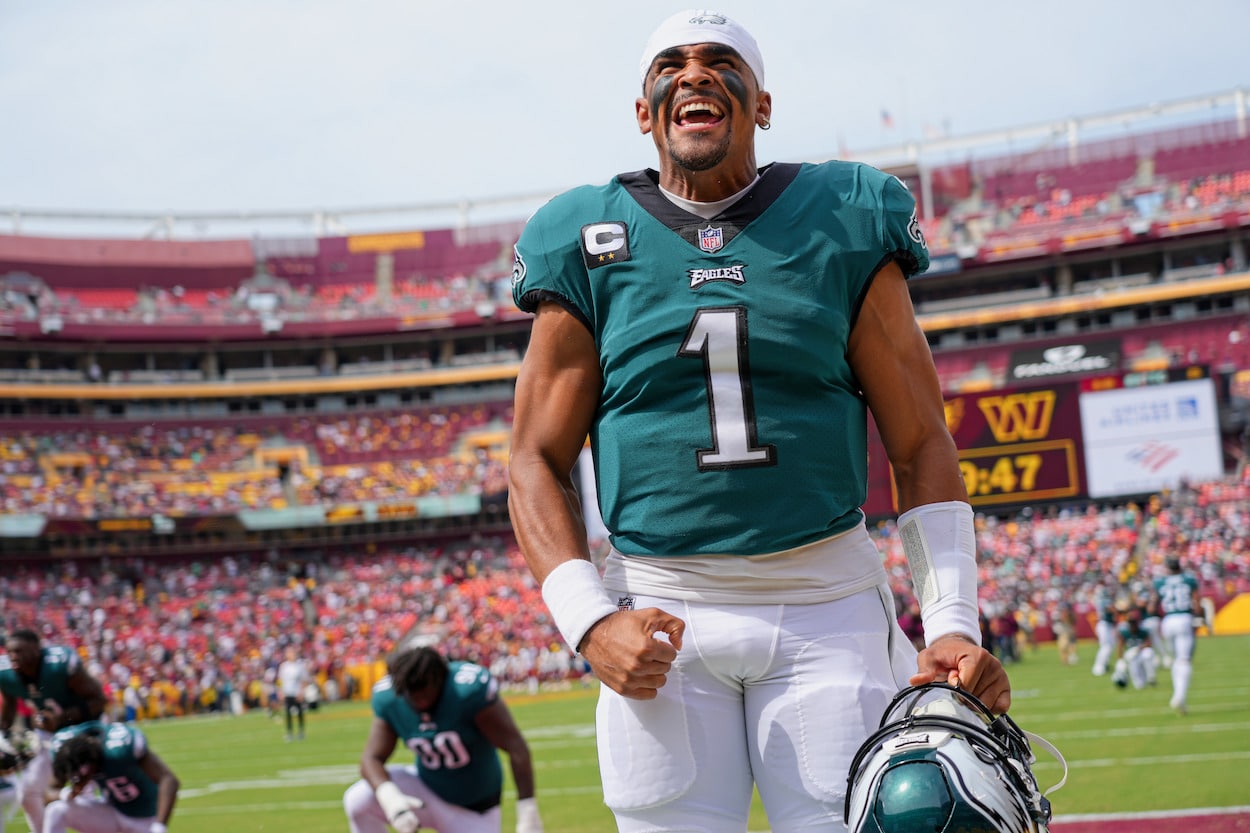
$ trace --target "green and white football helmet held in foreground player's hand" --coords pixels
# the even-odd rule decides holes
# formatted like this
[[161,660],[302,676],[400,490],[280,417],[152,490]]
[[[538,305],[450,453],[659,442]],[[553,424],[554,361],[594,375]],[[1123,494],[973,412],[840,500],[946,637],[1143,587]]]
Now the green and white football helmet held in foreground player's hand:
[[1048,833],[1029,739],[1050,743],[946,683],[905,688],[860,745],[846,784],[850,833]]

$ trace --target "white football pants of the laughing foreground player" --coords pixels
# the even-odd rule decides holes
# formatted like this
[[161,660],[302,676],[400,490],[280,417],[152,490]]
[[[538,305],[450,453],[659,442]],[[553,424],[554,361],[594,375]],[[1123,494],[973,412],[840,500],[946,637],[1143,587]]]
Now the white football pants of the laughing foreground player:
[[851,758],[916,672],[888,588],[820,604],[635,597],[686,623],[654,700],[600,688],[604,800],[621,833],[845,830]]

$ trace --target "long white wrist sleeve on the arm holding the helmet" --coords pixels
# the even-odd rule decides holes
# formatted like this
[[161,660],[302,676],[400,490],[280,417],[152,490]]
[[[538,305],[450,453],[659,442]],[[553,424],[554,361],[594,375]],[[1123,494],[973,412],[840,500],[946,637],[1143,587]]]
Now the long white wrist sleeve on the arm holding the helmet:
[[962,500],[929,503],[899,515],[926,645],[951,633],[981,644],[972,519],[972,507]]

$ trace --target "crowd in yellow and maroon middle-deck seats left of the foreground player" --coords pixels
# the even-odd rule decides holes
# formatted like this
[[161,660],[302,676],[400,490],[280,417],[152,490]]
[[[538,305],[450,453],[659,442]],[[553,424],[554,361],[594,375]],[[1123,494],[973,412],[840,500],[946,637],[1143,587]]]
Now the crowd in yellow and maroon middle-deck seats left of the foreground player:
[[456,444],[509,419],[506,404],[479,403],[280,424],[6,430],[0,512],[136,518],[498,494],[504,455]]

